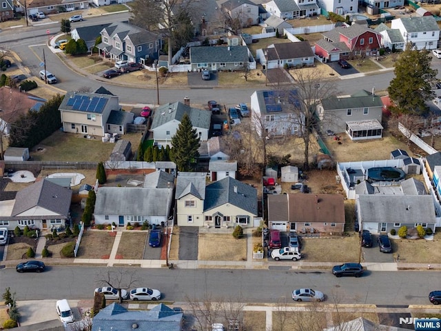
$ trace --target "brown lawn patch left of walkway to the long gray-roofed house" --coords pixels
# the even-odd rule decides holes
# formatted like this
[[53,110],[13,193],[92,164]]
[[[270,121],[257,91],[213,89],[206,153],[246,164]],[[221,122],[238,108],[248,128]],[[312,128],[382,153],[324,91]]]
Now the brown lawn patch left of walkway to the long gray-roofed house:
[[115,237],[110,231],[85,231],[81,239],[80,259],[108,259]]

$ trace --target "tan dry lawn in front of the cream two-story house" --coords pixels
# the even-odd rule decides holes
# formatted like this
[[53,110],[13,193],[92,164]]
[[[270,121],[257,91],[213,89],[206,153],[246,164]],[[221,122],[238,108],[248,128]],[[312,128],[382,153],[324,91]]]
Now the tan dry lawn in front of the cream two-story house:
[[231,233],[199,233],[198,260],[246,261],[247,240]]

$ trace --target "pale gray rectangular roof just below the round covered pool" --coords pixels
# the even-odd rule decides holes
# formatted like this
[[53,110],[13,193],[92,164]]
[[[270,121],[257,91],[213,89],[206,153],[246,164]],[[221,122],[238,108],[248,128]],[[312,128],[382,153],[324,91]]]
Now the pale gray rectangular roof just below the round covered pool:
[[358,205],[365,223],[418,223],[422,219],[424,223],[435,223],[429,195],[360,195]]

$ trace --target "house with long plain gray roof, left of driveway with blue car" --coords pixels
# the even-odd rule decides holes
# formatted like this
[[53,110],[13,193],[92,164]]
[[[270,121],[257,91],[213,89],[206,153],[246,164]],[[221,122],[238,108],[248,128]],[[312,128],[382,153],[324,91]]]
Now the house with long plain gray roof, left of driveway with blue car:
[[170,217],[173,189],[174,176],[163,171],[146,174],[142,188],[101,187],[96,192],[95,223],[161,225]]

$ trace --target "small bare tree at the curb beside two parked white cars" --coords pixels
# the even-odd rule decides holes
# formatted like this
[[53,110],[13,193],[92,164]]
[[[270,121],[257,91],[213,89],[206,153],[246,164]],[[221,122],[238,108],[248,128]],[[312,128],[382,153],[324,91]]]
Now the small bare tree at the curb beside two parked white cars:
[[141,281],[141,278],[136,274],[136,270],[127,271],[119,268],[107,268],[96,275],[96,283],[118,290],[119,303],[123,302],[121,290],[129,289],[139,281]]

